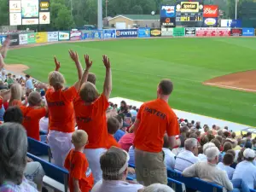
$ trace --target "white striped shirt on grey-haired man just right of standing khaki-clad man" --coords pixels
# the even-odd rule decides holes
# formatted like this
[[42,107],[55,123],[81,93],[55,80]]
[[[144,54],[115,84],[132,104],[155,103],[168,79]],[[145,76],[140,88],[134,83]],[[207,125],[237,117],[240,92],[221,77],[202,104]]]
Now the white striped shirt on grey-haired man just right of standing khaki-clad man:
[[183,172],[185,168],[192,166],[198,161],[198,158],[191,151],[185,149],[183,152],[177,154],[174,169],[176,172]]

